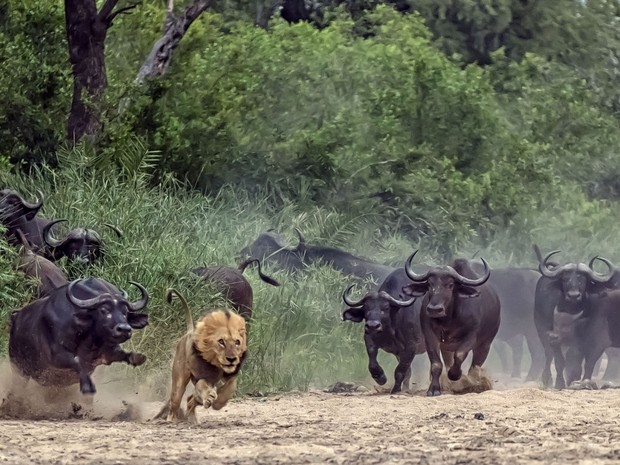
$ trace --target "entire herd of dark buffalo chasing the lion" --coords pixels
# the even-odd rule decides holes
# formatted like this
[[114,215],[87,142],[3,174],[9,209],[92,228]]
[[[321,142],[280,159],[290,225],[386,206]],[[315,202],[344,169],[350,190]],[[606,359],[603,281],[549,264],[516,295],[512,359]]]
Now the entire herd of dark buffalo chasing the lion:
[[[7,399],[29,380],[57,388],[79,385],[83,394],[93,394],[91,375],[97,366],[139,366],[146,361],[145,355],[126,352],[121,344],[148,324],[147,290],[130,281],[141,295],[132,302],[124,290],[103,279],[69,280],[56,262],[63,257],[83,265],[105,260],[104,241],[88,228],[55,238],[52,229],[66,220],[41,217],[43,204],[42,193],[30,203],[16,191],[0,191],[0,223],[9,244],[21,247],[17,268],[38,285],[35,300],[10,318],[14,376]],[[105,226],[122,238],[118,228]],[[308,244],[300,230],[297,234],[298,244],[289,246],[276,231],[266,231],[240,251],[237,267],[203,266],[188,273],[212,285],[245,320],[253,311],[252,287],[243,276],[250,265],[256,265],[260,279],[272,286],[280,284],[262,272],[261,264],[295,274],[324,265],[376,283],[357,298],[352,296],[355,284],[344,290],[342,319],[364,323],[368,370],[379,385],[387,383],[377,360],[379,349],[396,357],[392,393],[410,388],[414,358],[424,352],[430,362],[429,396],[441,393],[444,365],[448,379],[457,381],[466,358],[471,355],[469,372],[478,370],[492,345],[504,370],[520,377],[524,341],[531,358],[526,380],[542,380],[546,387],[552,385],[552,362],[558,389],[596,388],[592,377],[603,353],[604,378],[619,374],[620,271],[603,257],[588,264],[561,264],[551,260],[559,251],[543,257],[534,246],[538,266],[491,268],[484,259],[414,264],[414,252],[396,268]],[[604,274],[593,270],[597,261],[607,267]],[[512,350],[512,366],[506,345]]]

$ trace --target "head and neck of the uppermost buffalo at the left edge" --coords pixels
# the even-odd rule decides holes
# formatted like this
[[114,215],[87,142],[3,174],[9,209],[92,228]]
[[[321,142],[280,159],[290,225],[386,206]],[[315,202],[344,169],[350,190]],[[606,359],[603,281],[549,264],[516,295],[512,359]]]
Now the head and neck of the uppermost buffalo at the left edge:
[[37,216],[43,206],[43,194],[39,195],[41,197],[39,200],[29,203],[13,190],[0,191],[0,222],[7,229],[9,243],[20,245],[21,241],[17,237],[19,229],[37,252],[45,248],[42,232],[49,223],[48,220]]

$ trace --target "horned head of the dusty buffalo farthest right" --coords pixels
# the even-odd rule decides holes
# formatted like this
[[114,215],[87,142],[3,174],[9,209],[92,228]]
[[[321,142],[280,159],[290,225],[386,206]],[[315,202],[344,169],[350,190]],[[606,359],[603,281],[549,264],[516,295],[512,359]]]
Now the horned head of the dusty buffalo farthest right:
[[568,263],[549,269],[547,261],[559,252],[559,250],[549,252],[540,262],[538,270],[545,278],[553,280],[561,289],[565,301],[581,302],[588,294],[600,294],[612,285],[611,279],[614,276],[614,266],[606,258],[595,257],[595,259],[607,265],[609,268],[608,275],[596,273],[585,263]]

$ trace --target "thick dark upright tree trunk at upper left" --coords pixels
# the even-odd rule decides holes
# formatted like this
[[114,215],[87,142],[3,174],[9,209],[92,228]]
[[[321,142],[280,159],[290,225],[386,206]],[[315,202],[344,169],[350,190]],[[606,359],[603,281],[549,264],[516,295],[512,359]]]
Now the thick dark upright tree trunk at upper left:
[[106,0],[97,11],[96,0],[65,0],[69,61],[73,72],[73,99],[67,127],[70,141],[95,137],[101,129],[100,105],[108,81],[105,39],[114,19],[135,8],[130,2],[116,8],[119,0]]

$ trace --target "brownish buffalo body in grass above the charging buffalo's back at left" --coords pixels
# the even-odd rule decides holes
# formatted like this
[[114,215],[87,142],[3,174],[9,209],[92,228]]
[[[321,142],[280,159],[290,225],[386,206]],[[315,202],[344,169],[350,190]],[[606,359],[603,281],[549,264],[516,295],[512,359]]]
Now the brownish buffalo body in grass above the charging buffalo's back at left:
[[67,277],[60,268],[47,258],[32,251],[28,240],[20,229],[17,230],[17,235],[23,245],[17,269],[39,282],[37,293],[35,294],[37,298],[45,297],[55,289],[69,284]]

